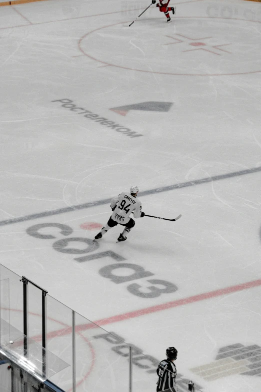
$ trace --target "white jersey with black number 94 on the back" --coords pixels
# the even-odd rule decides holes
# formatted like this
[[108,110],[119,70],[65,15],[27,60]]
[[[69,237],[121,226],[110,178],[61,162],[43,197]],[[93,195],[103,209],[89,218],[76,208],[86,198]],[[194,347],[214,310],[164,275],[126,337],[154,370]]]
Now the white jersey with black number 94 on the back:
[[116,208],[112,212],[111,218],[120,224],[128,223],[131,212],[133,212],[134,218],[140,218],[141,203],[128,192],[122,192],[111,199],[110,207],[113,208],[115,206]]

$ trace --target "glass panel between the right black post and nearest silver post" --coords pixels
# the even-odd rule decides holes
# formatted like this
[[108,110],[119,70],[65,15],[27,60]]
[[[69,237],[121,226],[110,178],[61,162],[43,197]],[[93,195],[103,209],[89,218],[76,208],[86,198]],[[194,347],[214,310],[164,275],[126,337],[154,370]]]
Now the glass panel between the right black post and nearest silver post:
[[[72,364],[72,311],[54,298],[47,301],[47,348],[53,354]],[[63,369],[51,377],[51,381],[65,392],[72,388],[72,370]]]

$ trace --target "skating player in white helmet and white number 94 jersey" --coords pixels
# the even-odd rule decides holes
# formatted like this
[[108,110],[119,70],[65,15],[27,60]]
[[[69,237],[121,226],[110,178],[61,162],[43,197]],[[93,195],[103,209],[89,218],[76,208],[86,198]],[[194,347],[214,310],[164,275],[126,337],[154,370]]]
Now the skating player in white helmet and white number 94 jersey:
[[138,191],[138,187],[131,186],[129,190],[130,193],[122,192],[111,199],[110,208],[113,213],[107,221],[107,224],[105,224],[100,232],[95,235],[95,239],[101,238],[104,233],[117,224],[125,226],[122,233],[119,234],[118,241],[125,241],[127,239],[124,234],[129,233],[135,225],[135,221],[129,217],[131,212],[133,212],[134,218],[143,218],[145,215],[144,212],[141,211],[140,201],[136,198]]

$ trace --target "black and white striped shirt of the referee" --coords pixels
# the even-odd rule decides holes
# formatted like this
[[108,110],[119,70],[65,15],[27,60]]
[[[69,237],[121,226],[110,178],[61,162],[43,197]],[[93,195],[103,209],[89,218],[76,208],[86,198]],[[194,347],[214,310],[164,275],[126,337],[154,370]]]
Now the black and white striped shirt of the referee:
[[163,359],[157,366],[157,392],[168,389],[169,392],[176,392],[175,378],[176,366],[169,359]]

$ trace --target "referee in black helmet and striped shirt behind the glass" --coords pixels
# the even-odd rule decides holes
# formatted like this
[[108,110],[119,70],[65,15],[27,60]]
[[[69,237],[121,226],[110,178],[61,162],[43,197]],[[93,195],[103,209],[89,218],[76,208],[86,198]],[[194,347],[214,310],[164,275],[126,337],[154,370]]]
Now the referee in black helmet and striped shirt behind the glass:
[[157,392],[161,392],[161,390],[164,390],[165,392],[176,392],[176,366],[173,362],[177,357],[177,350],[175,347],[168,347],[166,349],[166,357],[167,358],[161,360],[157,366]]

